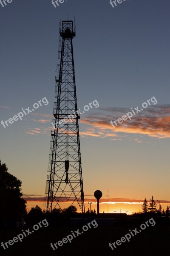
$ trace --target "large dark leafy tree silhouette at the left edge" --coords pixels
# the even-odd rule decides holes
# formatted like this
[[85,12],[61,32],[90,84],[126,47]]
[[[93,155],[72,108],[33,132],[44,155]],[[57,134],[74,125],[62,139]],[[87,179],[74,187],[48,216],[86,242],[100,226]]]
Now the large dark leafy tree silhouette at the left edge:
[[26,212],[26,201],[21,198],[22,182],[15,176],[8,173],[5,163],[0,160],[0,221],[6,224],[7,221],[20,221]]

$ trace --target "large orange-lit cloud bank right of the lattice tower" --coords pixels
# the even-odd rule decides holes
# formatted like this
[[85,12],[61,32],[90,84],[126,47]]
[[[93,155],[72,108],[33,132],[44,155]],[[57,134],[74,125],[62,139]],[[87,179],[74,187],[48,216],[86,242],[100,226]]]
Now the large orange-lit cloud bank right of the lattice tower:
[[[100,111],[101,113],[91,114],[81,119],[81,123],[86,125],[86,131],[83,131],[82,135],[104,138],[120,137],[118,136],[119,133],[127,133],[148,135],[159,139],[170,138],[170,105],[149,106],[144,111],[134,115],[131,120],[124,121],[115,128],[111,125],[111,120],[114,121],[122,117],[130,110],[126,108],[100,108]],[[142,143],[139,140],[136,142]]]

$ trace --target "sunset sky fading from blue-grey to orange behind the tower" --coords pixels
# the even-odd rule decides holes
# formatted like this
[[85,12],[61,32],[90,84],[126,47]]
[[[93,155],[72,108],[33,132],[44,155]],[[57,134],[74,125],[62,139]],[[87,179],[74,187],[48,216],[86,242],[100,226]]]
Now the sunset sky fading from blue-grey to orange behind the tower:
[[[0,4],[0,160],[22,181],[28,209],[45,209],[59,22],[74,16],[77,105],[99,105],[79,120],[85,210],[90,201],[96,209],[97,189],[100,212],[108,189],[109,212],[141,211],[152,195],[170,205],[169,10],[169,0]],[[131,120],[119,119],[130,111]]]

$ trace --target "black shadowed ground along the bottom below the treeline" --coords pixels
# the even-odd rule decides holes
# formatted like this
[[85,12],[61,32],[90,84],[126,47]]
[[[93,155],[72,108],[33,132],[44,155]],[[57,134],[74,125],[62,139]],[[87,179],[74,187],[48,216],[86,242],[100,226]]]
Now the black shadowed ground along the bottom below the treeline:
[[[146,227],[141,233],[136,234],[130,241],[126,241],[116,249],[111,250],[108,246],[109,242],[113,243],[122,236],[129,233],[129,229],[133,230],[144,223],[142,220],[131,221],[129,223],[115,224],[114,227],[96,227],[88,229],[83,234],[74,238],[72,242],[63,244],[55,251],[50,247],[51,242],[54,244],[64,237],[71,234],[71,230],[82,232],[81,227],[42,227],[34,233],[25,237],[22,242],[18,241],[14,245],[9,246],[6,250],[0,246],[0,256],[167,256],[170,255],[170,225],[169,222],[156,221],[155,226]],[[28,229],[25,227],[24,230]],[[7,228],[0,230],[0,244],[3,241],[9,241],[15,236],[22,233],[22,229]],[[30,226],[30,231],[32,231]]]

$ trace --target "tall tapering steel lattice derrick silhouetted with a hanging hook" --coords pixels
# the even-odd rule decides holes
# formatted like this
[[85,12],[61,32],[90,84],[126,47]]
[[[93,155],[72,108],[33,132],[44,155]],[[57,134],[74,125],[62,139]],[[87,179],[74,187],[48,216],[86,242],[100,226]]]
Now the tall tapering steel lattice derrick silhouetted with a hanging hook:
[[73,21],[62,21],[59,29],[59,59],[57,65],[54,120],[51,130],[50,161],[46,182],[47,212],[61,208],[61,203],[75,202],[85,212],[82,167],[79,142],[80,118],[77,110],[76,83],[72,39],[75,37]]

